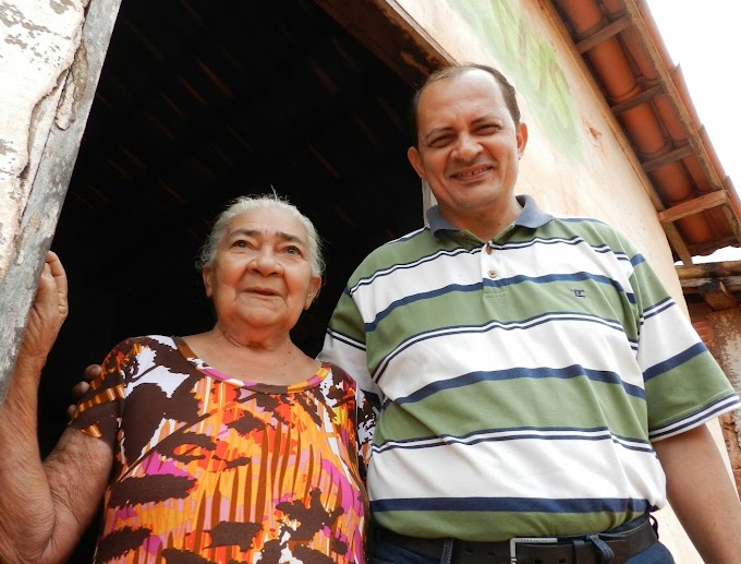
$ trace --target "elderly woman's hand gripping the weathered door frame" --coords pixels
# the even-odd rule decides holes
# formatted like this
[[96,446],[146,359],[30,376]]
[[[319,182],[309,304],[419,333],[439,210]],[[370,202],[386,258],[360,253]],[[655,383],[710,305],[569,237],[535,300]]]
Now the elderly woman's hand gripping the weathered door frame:
[[20,358],[46,361],[69,312],[66,291],[64,267],[59,256],[49,251],[28,312]]

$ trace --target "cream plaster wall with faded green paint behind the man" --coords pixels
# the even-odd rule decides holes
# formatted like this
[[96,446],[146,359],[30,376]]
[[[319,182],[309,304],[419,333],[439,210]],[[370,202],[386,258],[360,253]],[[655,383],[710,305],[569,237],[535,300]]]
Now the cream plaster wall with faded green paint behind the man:
[[[530,131],[517,191],[628,235],[685,308],[649,182],[552,8],[537,0],[397,3],[453,59],[489,63],[513,82]],[[720,442],[719,425],[710,428]],[[671,508],[658,518],[677,562],[702,562]]]

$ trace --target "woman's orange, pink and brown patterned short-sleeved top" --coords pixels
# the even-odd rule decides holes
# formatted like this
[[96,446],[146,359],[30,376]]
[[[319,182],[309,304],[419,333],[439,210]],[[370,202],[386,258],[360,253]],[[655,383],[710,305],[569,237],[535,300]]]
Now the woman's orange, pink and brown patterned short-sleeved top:
[[361,404],[336,367],[274,386],[221,374],[179,337],[124,340],[71,423],[116,455],[95,562],[363,563]]

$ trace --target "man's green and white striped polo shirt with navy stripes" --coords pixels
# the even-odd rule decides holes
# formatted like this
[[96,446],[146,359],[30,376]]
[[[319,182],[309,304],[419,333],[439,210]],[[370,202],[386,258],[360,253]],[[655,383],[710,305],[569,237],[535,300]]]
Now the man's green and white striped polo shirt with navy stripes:
[[651,441],[741,406],[625,237],[520,202],[488,242],[433,208],[330,322],[321,358],[380,401],[368,493],[399,533],[607,530],[666,502]]

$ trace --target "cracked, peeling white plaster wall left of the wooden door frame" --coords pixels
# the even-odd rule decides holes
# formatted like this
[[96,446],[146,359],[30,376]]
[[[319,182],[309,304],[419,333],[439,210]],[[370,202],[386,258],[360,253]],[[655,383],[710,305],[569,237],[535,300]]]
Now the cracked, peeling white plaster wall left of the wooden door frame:
[[21,218],[49,131],[74,119],[65,82],[85,62],[88,1],[0,0],[0,281],[15,248],[23,260]]

